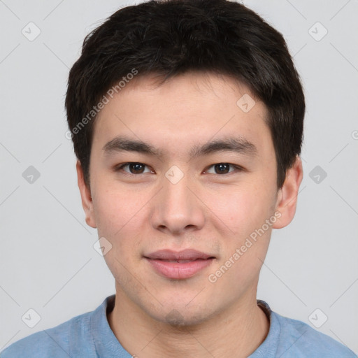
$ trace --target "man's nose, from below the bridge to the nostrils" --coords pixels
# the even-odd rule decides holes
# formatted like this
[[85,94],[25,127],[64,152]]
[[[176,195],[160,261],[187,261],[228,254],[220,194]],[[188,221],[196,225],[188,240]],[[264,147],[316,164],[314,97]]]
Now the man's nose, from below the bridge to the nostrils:
[[197,185],[186,175],[178,182],[168,178],[163,178],[163,187],[152,202],[152,227],[171,236],[201,229],[206,207]]

